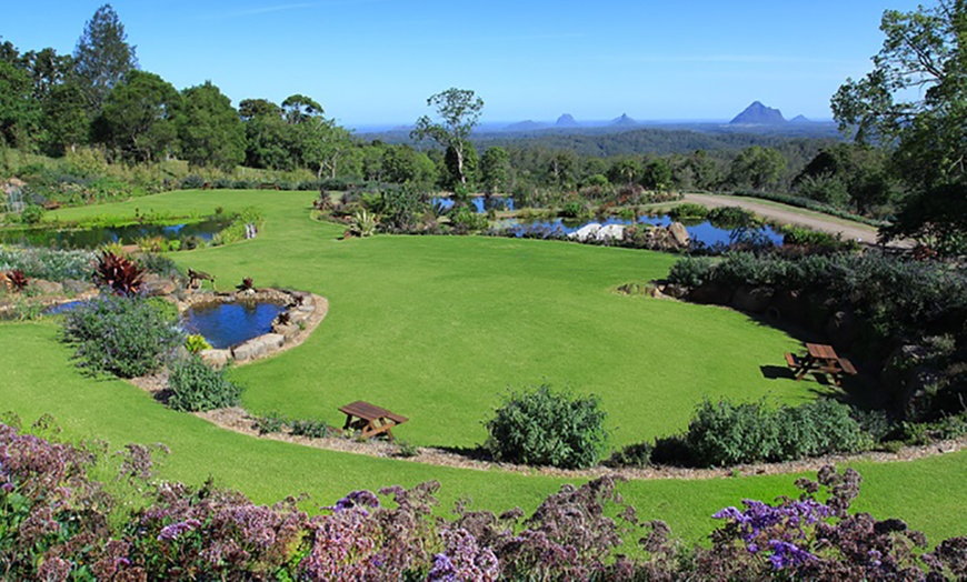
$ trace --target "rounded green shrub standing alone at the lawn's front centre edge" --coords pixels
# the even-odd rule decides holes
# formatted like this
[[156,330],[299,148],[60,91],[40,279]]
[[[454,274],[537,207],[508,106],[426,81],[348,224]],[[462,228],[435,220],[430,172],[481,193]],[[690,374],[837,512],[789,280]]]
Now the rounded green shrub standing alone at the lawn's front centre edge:
[[486,422],[486,448],[511,463],[580,469],[596,464],[607,433],[597,397],[554,392],[548,384],[511,392]]

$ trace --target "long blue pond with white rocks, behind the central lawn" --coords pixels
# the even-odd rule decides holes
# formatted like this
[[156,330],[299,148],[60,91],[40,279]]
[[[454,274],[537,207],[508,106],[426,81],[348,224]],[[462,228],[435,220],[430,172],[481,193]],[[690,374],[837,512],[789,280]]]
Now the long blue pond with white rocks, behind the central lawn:
[[[638,217],[637,221],[632,221],[629,219],[621,219],[617,217],[609,217],[604,220],[567,220],[567,219],[554,219],[554,220],[538,220],[530,222],[520,222],[518,220],[508,220],[500,222],[498,228],[508,228],[517,237],[524,237],[528,232],[541,232],[547,234],[558,234],[558,235],[567,235],[577,230],[591,224],[598,223],[604,227],[608,224],[651,224],[655,227],[667,227],[671,224],[674,220],[669,217]],[[688,231],[689,237],[691,237],[692,241],[700,242],[707,247],[716,247],[716,245],[728,245],[734,242],[738,242],[739,239],[748,240],[749,237],[755,238],[765,238],[769,240],[775,245],[782,244],[782,234],[772,230],[771,227],[762,227],[758,229],[729,229],[724,227],[712,225],[707,220],[704,221],[684,221],[685,230]]]

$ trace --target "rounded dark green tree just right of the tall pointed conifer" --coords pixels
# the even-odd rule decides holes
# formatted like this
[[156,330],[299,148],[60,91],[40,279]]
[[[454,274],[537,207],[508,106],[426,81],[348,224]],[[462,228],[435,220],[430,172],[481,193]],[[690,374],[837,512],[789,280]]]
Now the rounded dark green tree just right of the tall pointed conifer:
[[130,71],[94,120],[94,140],[129,161],[162,159],[178,139],[175,114],[180,103],[181,96],[165,79]]

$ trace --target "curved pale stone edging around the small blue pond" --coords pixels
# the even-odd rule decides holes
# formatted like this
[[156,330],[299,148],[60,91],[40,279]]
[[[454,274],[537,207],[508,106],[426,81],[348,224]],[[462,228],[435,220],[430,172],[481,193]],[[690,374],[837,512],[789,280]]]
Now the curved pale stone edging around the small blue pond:
[[239,345],[225,350],[202,350],[202,360],[215,367],[223,367],[229,362],[243,364],[262,360],[281,351],[301,344],[316,330],[329,312],[329,301],[325,297],[303,291],[281,289],[252,289],[238,293],[200,293],[192,294],[178,302],[178,311],[205,303],[233,303],[237,301],[262,301],[282,303],[289,314],[288,323],[277,319],[272,322],[272,331],[258,338],[252,338]]

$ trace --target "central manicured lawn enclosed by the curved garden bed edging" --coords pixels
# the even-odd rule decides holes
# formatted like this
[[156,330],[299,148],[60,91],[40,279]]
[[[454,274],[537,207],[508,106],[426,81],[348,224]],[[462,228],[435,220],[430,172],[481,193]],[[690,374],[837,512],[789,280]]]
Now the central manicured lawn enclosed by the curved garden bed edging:
[[308,221],[311,195],[179,192],[148,204],[261,205],[255,241],[173,257],[221,288],[251,277],[329,298],[302,349],[233,373],[252,411],[339,424],[338,407],[367,400],[409,417],[395,432],[415,444],[473,446],[508,387],[547,381],[601,395],[620,445],[681,431],[702,397],[813,398],[808,384],[762,377],[796,348],[781,332],[729,310],[614,292],[664,277],[675,257],[484,237],[338,241],[341,229]]

